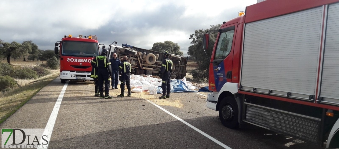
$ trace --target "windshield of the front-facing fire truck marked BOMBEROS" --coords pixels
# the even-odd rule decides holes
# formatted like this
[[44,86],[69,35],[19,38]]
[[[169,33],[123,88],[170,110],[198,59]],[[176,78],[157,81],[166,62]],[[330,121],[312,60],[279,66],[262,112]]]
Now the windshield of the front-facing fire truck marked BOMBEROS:
[[99,55],[99,45],[95,42],[63,41],[62,55],[96,57]]

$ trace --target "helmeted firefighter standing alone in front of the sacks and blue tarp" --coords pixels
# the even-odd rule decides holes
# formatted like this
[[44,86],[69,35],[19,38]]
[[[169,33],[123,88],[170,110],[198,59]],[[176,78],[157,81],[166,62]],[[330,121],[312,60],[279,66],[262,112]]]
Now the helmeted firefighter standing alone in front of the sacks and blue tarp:
[[160,74],[162,78],[161,88],[162,96],[159,99],[169,98],[171,92],[171,73],[172,73],[173,62],[169,59],[169,52],[164,52],[164,60],[162,61]]

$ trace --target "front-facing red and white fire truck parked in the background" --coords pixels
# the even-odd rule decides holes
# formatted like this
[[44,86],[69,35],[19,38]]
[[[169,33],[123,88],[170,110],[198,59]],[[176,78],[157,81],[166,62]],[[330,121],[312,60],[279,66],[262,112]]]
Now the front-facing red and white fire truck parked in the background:
[[99,55],[99,43],[96,36],[65,35],[61,41],[55,43],[54,52],[60,55],[61,83],[67,80],[93,80],[91,62]]

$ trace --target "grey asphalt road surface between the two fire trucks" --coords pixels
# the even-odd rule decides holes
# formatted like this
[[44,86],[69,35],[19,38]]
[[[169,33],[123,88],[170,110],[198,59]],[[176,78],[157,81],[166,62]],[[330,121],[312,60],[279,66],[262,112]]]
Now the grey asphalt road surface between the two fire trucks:
[[171,93],[160,100],[160,94],[146,93],[118,98],[115,89],[113,99],[100,99],[91,82],[64,85],[53,80],[0,128],[52,128],[49,148],[324,148],[258,127],[228,129],[205,106],[207,93]]

